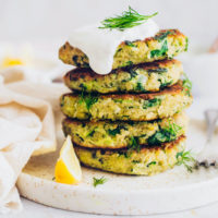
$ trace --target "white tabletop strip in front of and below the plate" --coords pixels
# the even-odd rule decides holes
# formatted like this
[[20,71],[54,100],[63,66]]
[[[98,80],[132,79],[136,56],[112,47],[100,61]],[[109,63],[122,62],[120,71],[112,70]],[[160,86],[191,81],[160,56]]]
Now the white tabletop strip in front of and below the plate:
[[[51,207],[47,207],[28,199],[22,198],[24,209],[20,214],[11,214],[11,215],[2,215],[0,218],[97,218],[98,215],[89,215],[82,213],[73,213],[61,209],[55,209]],[[146,217],[146,218],[205,218],[205,217],[217,217],[218,215],[218,202],[208,206],[204,206],[196,209],[173,213],[173,214],[165,214],[165,215],[156,215],[156,216],[116,216],[116,217]],[[100,216],[105,218],[110,218],[113,216]]]

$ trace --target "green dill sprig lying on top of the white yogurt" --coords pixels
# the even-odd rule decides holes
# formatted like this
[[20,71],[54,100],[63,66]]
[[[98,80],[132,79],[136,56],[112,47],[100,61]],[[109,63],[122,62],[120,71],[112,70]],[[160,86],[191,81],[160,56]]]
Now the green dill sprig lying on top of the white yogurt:
[[121,15],[114,17],[109,17],[101,21],[101,25],[98,28],[109,28],[109,29],[119,29],[124,31],[125,28],[132,28],[134,26],[145,23],[148,19],[157,15],[158,12],[152,15],[142,15],[129,7],[128,11],[122,12]]

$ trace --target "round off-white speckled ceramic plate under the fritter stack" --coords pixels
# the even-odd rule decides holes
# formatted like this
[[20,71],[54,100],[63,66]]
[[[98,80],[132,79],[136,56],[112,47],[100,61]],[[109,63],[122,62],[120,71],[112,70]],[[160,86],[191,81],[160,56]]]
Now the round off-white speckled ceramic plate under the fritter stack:
[[[59,141],[62,142],[61,131]],[[205,141],[205,124],[191,120],[187,146],[197,152]],[[218,144],[218,137],[214,138]],[[60,143],[61,144],[61,143]],[[155,177],[117,175],[83,168],[80,185],[52,181],[58,153],[31,159],[19,178],[20,193],[32,201],[74,211],[108,215],[150,215],[199,207],[218,201],[218,170],[189,173],[183,167]],[[105,177],[93,186],[93,177]]]

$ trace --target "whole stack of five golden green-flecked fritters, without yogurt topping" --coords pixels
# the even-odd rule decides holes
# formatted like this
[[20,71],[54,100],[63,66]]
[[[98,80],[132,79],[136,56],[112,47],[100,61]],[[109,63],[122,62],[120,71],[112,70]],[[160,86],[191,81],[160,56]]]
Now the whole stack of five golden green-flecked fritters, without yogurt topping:
[[78,48],[61,47],[60,59],[77,66],[64,76],[73,93],[61,97],[63,132],[83,165],[150,175],[177,164],[187,125],[183,110],[192,96],[189,83],[180,81],[181,62],[172,58],[186,49],[187,38],[177,29],[123,41],[113,70],[99,75]]

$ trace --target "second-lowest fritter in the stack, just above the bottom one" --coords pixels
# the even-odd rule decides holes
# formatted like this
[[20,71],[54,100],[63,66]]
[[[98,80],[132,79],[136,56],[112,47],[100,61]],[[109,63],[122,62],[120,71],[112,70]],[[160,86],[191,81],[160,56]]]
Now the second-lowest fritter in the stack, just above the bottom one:
[[63,132],[83,147],[117,149],[171,142],[185,134],[187,117],[184,112],[172,118],[142,122],[63,120]]

